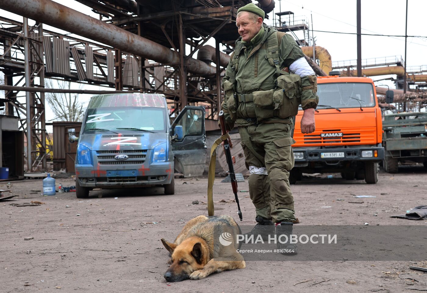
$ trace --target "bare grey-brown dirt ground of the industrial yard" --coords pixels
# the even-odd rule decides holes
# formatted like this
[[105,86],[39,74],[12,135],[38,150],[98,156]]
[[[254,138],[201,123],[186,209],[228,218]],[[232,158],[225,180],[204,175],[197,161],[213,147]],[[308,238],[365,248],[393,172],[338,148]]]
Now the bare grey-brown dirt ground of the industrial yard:
[[[237,219],[229,183],[216,178],[216,214]],[[376,185],[345,181],[339,174],[306,177],[292,185],[298,225],[426,225],[426,220],[390,218],[427,204],[427,173],[403,167],[380,173]],[[207,177],[175,179],[175,195],[163,188],[94,190],[89,199],[75,193],[42,196],[41,180],[3,182],[19,194],[0,202],[1,292],[414,292],[427,290],[425,261],[248,261],[243,270],[167,283],[168,255],[160,238],[173,241],[184,224],[205,214]],[[73,179],[56,184],[74,185]],[[248,183],[239,183],[248,190]],[[357,199],[353,195],[373,195]],[[249,193],[240,192],[243,221],[254,225]],[[225,199],[226,202],[219,202]],[[344,200],[337,200],[344,199]],[[198,205],[192,205],[199,200]],[[41,201],[15,207],[11,203]],[[330,208],[322,208],[328,207]],[[24,240],[34,237],[33,240]],[[405,275],[409,274],[409,275]],[[415,279],[416,281],[410,281]],[[308,280],[308,281],[306,281]],[[302,282],[306,281],[306,282]],[[321,282],[323,281],[323,282]],[[321,283],[319,283],[321,282]],[[297,284],[299,283],[299,284]],[[317,284],[316,284],[317,283]],[[412,289],[412,290],[411,290]]]

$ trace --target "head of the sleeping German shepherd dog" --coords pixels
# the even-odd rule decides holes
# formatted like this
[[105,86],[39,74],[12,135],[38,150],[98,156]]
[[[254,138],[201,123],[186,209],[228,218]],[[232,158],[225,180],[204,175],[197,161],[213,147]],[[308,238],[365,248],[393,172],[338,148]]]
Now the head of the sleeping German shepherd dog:
[[178,246],[161,239],[164,247],[172,256],[172,264],[164,273],[168,282],[180,282],[190,278],[192,272],[201,270],[208,262],[208,253],[203,242],[197,237],[184,240]]

